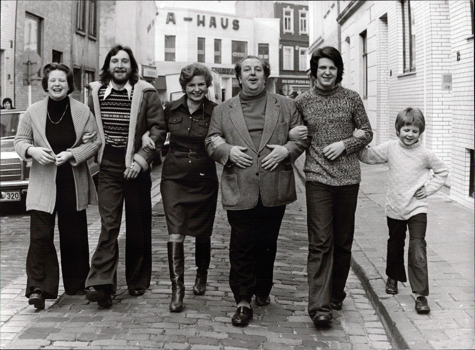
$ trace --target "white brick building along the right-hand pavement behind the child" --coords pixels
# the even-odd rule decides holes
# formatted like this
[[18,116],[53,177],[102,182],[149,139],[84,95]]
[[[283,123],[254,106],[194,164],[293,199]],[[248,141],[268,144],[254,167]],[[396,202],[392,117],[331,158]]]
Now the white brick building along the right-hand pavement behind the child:
[[471,2],[341,1],[333,26],[341,31],[342,85],[360,93],[374,130],[372,144],[396,137],[401,109],[420,108],[426,117],[423,144],[451,169],[445,192],[473,208]]

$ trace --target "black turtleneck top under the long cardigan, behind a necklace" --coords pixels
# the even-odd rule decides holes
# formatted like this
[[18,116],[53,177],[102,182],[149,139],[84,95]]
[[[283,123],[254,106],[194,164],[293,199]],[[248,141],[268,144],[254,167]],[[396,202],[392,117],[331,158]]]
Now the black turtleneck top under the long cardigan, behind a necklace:
[[[67,96],[61,101],[55,101],[51,99],[51,97],[48,99],[45,133],[54,154],[59,154],[66,151],[67,148],[74,146],[76,142],[76,131],[74,129],[71,106]],[[58,166],[56,183],[69,182],[71,180],[74,182],[71,164],[66,162]]]

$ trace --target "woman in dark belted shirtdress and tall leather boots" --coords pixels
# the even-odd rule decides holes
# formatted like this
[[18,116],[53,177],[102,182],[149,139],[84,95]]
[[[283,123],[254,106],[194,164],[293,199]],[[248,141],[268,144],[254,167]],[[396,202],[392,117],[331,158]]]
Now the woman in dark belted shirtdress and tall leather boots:
[[206,98],[212,76],[204,64],[184,67],[180,85],[185,94],[165,108],[170,151],[163,160],[160,191],[167,220],[168,264],[171,279],[171,312],[183,310],[185,295],[185,236],[195,237],[195,295],[206,290],[216,203],[218,176],[216,165],[205,150],[209,120],[216,103]]

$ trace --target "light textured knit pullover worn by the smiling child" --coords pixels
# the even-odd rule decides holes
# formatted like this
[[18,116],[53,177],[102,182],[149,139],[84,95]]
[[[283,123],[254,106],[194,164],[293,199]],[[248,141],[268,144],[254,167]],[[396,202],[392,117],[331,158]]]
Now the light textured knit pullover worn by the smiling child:
[[[422,186],[426,187],[428,196],[436,193],[448,176],[444,162],[420,142],[406,146],[398,138],[361,149],[359,158],[366,164],[388,163],[386,215],[392,219],[408,220],[416,214],[427,213],[427,198],[417,199],[414,193]],[[434,177],[428,182],[430,169]]]

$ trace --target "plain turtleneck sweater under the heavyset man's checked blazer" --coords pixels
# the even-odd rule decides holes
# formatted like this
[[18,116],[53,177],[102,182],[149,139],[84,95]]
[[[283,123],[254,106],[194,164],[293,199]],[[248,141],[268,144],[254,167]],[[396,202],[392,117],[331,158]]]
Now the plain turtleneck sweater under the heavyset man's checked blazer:
[[239,98],[247,130],[258,150],[261,144],[264,123],[266,122],[267,91],[264,89],[256,96],[247,96],[241,91]]

